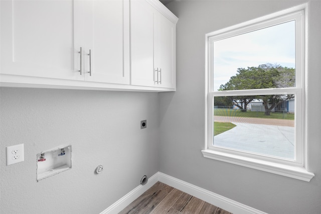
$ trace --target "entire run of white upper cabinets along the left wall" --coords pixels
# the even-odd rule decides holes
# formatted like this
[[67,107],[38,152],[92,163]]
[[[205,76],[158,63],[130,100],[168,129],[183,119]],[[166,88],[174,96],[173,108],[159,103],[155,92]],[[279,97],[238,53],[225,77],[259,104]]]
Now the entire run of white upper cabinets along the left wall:
[[176,90],[177,17],[157,0],[0,6],[0,86]]

